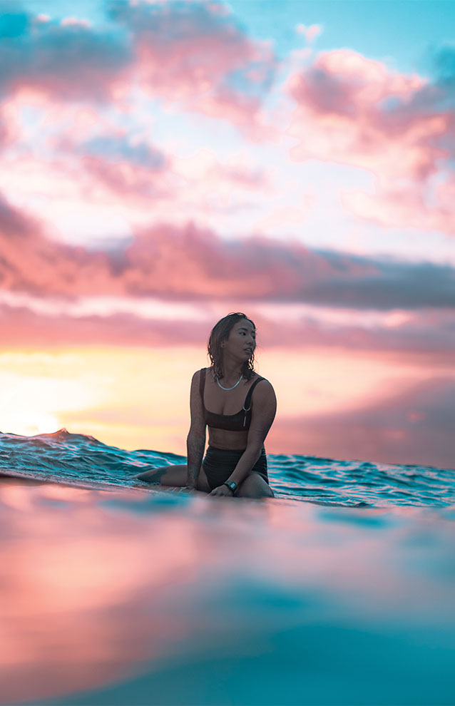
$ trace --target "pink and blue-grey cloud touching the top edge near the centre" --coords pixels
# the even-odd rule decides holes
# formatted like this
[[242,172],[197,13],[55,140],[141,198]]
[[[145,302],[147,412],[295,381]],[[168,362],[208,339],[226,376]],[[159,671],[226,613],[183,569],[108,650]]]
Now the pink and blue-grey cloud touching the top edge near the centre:
[[250,39],[227,6],[171,0],[107,8],[133,35],[145,91],[208,114],[221,116],[224,107],[232,118],[260,106],[277,61],[270,43]]

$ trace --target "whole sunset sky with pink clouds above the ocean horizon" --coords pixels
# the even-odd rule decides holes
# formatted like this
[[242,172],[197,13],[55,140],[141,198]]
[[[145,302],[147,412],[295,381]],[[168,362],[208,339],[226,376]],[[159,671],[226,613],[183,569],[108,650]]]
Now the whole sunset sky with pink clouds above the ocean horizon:
[[186,454],[230,312],[270,454],[453,468],[451,0],[0,0],[0,430]]

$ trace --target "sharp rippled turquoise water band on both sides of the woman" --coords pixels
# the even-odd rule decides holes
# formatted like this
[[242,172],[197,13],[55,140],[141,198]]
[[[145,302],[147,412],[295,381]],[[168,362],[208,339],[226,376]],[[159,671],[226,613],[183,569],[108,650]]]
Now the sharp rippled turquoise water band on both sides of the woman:
[[[284,454],[267,454],[267,461],[270,485],[279,498],[362,507],[455,503],[454,470]],[[53,483],[150,488],[133,476],[185,463],[185,456],[126,451],[66,429],[38,436],[0,433],[0,471]]]

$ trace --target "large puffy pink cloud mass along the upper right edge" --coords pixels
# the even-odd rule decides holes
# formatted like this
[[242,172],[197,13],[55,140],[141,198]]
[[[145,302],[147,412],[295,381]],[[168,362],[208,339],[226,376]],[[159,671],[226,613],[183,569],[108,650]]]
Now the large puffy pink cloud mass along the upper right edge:
[[285,86],[295,103],[286,133],[299,140],[291,158],[374,173],[374,195],[344,196],[359,218],[455,234],[453,78],[441,72],[431,83],[351,49],[319,53]]

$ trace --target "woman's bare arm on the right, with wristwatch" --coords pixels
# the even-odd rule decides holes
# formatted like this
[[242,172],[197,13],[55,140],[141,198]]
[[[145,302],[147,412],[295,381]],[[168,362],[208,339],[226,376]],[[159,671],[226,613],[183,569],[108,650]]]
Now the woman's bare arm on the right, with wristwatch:
[[253,392],[255,398],[251,411],[251,424],[248,430],[247,448],[230,474],[228,480],[237,486],[245,480],[252,467],[259,459],[265,437],[269,433],[277,412],[275,390],[268,380],[261,380]]

